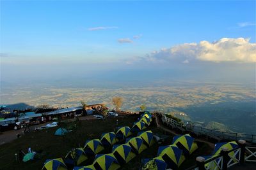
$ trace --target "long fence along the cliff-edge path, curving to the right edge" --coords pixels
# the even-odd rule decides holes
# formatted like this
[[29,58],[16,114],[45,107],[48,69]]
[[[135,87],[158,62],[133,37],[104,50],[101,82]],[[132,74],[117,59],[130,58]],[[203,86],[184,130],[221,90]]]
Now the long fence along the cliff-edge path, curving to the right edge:
[[234,140],[243,139],[250,143],[256,143],[256,135],[255,134],[243,134],[243,133],[234,133],[234,132],[221,132],[212,129],[206,129],[204,127],[198,127],[196,125],[191,124],[182,124],[177,122],[173,118],[168,118],[164,115],[163,112],[155,111],[158,115],[162,116],[162,121],[168,125],[171,125],[173,128],[180,129],[181,131],[190,131],[195,133],[196,135],[205,135],[210,138],[217,139],[220,141],[221,139]]

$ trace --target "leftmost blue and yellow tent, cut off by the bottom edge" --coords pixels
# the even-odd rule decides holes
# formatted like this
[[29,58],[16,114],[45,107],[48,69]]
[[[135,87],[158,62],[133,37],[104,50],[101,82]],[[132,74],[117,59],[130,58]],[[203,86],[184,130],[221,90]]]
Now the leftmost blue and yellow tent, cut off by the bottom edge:
[[47,159],[42,170],[67,170],[67,166],[62,158]]

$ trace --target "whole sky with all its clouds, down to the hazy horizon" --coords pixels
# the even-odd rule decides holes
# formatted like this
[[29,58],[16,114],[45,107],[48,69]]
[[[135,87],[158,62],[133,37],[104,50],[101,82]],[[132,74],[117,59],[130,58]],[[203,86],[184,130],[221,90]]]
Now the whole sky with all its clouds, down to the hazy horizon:
[[255,1],[0,5],[1,81],[114,74],[255,81]]

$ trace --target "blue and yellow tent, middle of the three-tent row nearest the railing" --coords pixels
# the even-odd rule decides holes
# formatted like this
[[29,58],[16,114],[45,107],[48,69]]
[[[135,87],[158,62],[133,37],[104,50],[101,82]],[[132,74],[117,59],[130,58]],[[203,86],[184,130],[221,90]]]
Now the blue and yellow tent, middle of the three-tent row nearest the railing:
[[185,160],[182,150],[175,145],[159,146],[157,156],[171,169],[177,169]]

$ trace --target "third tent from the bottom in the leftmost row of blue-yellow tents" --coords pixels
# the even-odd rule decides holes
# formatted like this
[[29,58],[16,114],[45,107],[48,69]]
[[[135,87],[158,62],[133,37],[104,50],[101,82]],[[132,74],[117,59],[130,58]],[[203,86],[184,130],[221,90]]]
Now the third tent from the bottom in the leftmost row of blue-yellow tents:
[[93,139],[86,141],[83,150],[87,155],[95,155],[104,150],[104,147],[99,139]]

